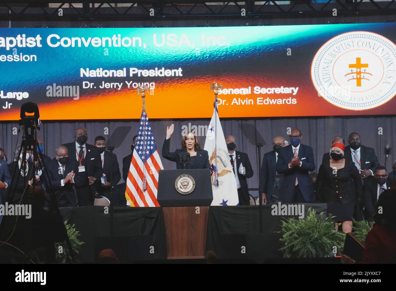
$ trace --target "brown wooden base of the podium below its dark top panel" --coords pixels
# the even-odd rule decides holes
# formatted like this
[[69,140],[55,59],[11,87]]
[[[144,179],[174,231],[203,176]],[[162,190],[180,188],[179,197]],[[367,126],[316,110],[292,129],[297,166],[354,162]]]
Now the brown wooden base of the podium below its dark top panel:
[[162,207],[168,259],[204,259],[209,206]]

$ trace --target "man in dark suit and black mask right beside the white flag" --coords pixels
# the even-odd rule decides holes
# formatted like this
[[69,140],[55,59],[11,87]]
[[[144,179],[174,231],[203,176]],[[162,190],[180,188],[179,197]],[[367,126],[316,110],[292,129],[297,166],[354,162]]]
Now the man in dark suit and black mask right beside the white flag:
[[250,196],[247,191],[246,178],[253,176],[253,169],[251,167],[249,157],[244,152],[238,152],[235,150],[236,140],[232,135],[228,135],[225,142],[227,143],[228,154],[230,155],[230,162],[235,175],[239,205],[250,205]]

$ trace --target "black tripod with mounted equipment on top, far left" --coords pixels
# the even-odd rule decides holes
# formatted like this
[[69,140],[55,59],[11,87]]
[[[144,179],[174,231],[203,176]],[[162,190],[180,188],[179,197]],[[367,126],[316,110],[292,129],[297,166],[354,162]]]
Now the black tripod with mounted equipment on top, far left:
[[[34,115],[26,116],[26,112],[34,113]],[[36,163],[37,163],[38,169],[40,169],[41,173],[42,173],[42,175],[40,175],[40,177],[43,177],[44,184],[45,184],[45,186],[47,188],[47,192],[49,194],[50,204],[53,207],[53,209],[55,210],[56,217],[59,220],[59,225],[62,226],[63,236],[65,237],[67,247],[70,252],[70,257],[72,258],[72,261],[74,261],[74,253],[73,253],[73,250],[72,250],[72,247],[70,244],[69,237],[67,236],[66,227],[63,224],[62,215],[59,211],[57,199],[55,197],[55,191],[53,189],[52,184],[49,181],[49,173],[48,173],[47,167],[45,165],[44,159],[42,157],[42,152],[41,152],[40,148],[37,147],[37,131],[40,130],[40,127],[38,127],[38,125],[40,125],[39,117],[40,117],[40,114],[38,111],[38,106],[35,103],[27,102],[22,105],[21,120],[19,120],[19,124],[21,126],[23,126],[23,137],[22,137],[22,142],[21,142],[20,148],[19,148],[19,152],[17,154],[17,157],[19,158],[21,155],[21,152],[22,152],[22,161],[20,162],[21,163],[20,166],[18,163],[18,165],[15,167],[15,171],[13,172],[13,176],[11,178],[11,183],[10,183],[11,185],[7,189],[6,201],[11,204],[15,203],[14,196],[15,196],[16,188],[19,183],[20,175],[23,175],[23,180],[24,180],[23,185],[25,185],[25,188],[23,190],[21,199],[19,200],[18,204],[22,204],[22,203],[26,203],[29,205],[32,204],[32,202],[34,200],[35,186],[38,181],[38,178],[34,177],[32,179],[32,183],[30,183],[30,181],[27,182],[26,179],[32,175],[32,171],[34,170],[34,167],[36,166]],[[37,149],[39,152],[37,152]],[[28,150],[33,153],[33,157],[32,157],[33,163],[30,166],[30,169],[29,169],[29,162],[27,162],[27,159],[26,159],[26,154],[27,154]],[[38,158],[39,156],[40,156],[40,158]],[[17,176],[17,177],[15,177],[15,176]],[[29,187],[32,188],[31,192],[28,190]],[[25,198],[25,200],[24,200],[24,196],[27,196],[27,198]],[[6,234],[4,234],[4,230],[5,230],[6,221],[8,220],[7,217],[8,216],[4,217],[4,221],[2,223],[3,226],[0,225],[0,227],[1,227],[0,237],[3,237],[6,235]],[[6,238],[6,240],[4,240],[4,243],[6,243],[8,240],[10,240],[11,236],[13,235],[13,232],[17,226],[17,221],[18,221],[18,216],[16,218],[11,235],[8,238]],[[25,250],[30,251],[32,249],[32,222],[31,222],[31,220],[26,219],[25,225],[26,225]],[[0,242],[0,246],[4,243]]]

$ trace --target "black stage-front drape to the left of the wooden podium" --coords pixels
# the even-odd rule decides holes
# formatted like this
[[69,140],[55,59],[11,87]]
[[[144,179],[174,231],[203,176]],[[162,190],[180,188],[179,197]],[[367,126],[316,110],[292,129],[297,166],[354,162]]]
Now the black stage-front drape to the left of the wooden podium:
[[[110,214],[105,213],[103,206],[65,207],[60,211],[64,220],[67,219],[71,225],[76,224],[75,228],[81,234],[79,239],[84,242],[78,261],[95,261],[99,245],[103,245],[103,239],[110,236]],[[129,239],[122,239],[126,237]],[[111,241],[120,244],[116,249],[125,249],[118,254],[114,249],[122,261],[127,257],[132,261],[166,259],[161,207],[114,207],[114,239]]]

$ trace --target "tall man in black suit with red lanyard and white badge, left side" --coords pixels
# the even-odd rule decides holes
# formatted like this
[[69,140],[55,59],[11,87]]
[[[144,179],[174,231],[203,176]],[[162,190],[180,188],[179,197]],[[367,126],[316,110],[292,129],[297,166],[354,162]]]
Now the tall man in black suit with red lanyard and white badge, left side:
[[87,130],[78,127],[74,131],[74,142],[66,143],[70,158],[75,159],[80,173],[80,186],[76,188],[78,206],[93,205],[96,185],[100,184],[103,175],[101,158],[96,146],[86,144]]

